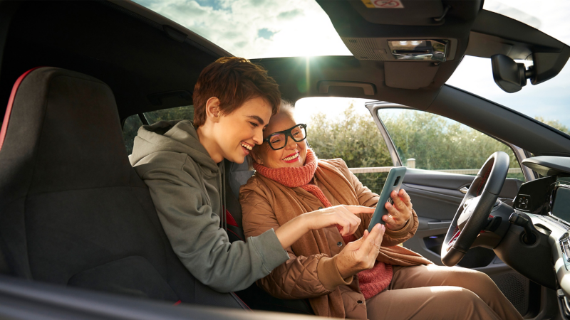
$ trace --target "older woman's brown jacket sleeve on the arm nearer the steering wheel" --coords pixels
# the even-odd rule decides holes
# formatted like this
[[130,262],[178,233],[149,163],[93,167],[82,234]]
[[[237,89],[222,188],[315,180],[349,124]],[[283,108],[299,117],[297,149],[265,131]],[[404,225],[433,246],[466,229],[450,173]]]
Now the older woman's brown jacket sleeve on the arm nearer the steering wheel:
[[[356,196],[358,197],[358,203],[360,203],[361,206],[375,207],[378,204],[378,198],[380,198],[380,196],[373,193],[368,187],[363,186],[356,175],[348,170],[348,166],[346,166],[346,163],[342,159],[338,159],[337,166],[341,171],[343,171],[346,178],[348,178],[348,181],[351,181],[353,184]],[[364,234],[364,230],[368,228],[372,215],[361,214],[359,215],[359,218],[361,218],[362,222],[358,228],[358,235],[356,238],[360,238]],[[392,247],[393,245],[399,245],[400,243],[405,242],[405,240],[412,238],[413,235],[415,235],[415,231],[418,230],[418,225],[418,215],[415,213],[415,210],[412,209],[412,217],[402,229],[390,230],[386,228],[384,238],[382,239],[382,246]]]

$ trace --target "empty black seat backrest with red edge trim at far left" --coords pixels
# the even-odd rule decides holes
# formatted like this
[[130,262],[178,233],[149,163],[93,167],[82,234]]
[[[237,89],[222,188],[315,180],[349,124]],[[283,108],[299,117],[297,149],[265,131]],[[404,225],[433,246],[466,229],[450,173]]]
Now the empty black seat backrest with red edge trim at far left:
[[242,308],[198,282],[128,162],[113,92],[37,68],[14,85],[0,132],[0,251],[26,279]]

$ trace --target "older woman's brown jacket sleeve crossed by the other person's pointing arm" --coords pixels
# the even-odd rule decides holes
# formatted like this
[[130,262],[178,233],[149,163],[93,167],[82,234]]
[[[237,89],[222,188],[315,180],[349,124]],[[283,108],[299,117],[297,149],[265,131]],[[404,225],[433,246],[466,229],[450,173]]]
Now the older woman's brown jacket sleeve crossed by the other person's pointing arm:
[[[279,222],[261,188],[242,187],[239,202],[242,204],[244,234],[249,237],[261,235],[271,228],[279,228]],[[280,299],[307,299],[333,292],[340,284],[350,284],[352,277],[343,279],[336,268],[336,257],[324,254],[309,257],[296,256],[287,248],[289,260],[276,267],[257,284],[266,292]]]

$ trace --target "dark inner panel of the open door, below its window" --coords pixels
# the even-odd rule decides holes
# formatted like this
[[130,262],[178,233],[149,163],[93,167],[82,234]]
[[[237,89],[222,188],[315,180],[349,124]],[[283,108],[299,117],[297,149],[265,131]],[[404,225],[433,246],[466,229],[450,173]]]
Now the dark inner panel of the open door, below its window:
[[[474,176],[462,174],[408,169],[403,188],[412,199],[420,225],[414,237],[404,242],[404,246],[427,257],[436,265],[443,265],[440,256],[441,245],[463,199],[463,193],[459,190],[463,186],[468,188],[473,178]],[[499,198],[512,204],[521,184],[522,181],[518,179],[507,178]],[[492,250],[472,248],[458,265],[488,274],[515,308],[521,314],[527,314],[531,302],[529,292],[539,288],[504,264]]]

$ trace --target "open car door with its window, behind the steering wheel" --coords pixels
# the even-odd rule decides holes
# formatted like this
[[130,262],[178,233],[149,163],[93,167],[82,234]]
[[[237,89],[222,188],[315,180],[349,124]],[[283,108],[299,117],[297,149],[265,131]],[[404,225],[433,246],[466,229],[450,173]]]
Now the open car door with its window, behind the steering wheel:
[[[387,103],[368,103],[394,166],[407,166],[403,188],[412,199],[420,225],[405,247],[442,265],[440,250],[447,228],[480,166],[494,151],[506,152],[511,163],[499,198],[512,205],[519,186],[532,178],[532,171],[521,169],[524,151],[499,142],[452,119],[429,112]],[[513,149],[514,148],[514,149]],[[458,264],[480,270],[521,312],[531,306],[530,292],[537,284],[512,270],[494,252],[472,248]]]

